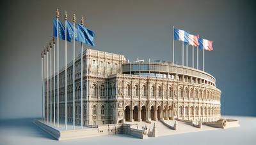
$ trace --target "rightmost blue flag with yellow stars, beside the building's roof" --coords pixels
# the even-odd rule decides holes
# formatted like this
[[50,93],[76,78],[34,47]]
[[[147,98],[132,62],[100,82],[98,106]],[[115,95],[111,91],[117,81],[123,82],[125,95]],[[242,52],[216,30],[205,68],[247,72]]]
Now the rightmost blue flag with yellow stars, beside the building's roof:
[[89,29],[86,29],[86,27],[84,27],[81,24],[77,25],[77,29],[78,29],[78,34],[81,34],[81,38],[79,38],[81,40],[81,42],[89,44],[91,46],[94,46],[94,32],[90,31]]

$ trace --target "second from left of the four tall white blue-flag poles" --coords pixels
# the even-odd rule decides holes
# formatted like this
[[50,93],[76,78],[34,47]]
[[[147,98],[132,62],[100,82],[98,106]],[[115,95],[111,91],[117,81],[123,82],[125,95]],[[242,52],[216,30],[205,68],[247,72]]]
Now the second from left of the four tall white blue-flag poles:
[[65,130],[67,130],[67,11],[65,11]]

